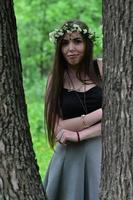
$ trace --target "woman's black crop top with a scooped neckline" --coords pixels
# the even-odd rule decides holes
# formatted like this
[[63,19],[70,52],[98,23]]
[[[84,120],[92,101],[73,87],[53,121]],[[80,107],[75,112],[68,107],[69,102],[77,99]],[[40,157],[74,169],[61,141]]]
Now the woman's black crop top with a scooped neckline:
[[[63,88],[61,95],[61,109],[63,119],[69,119],[73,117],[79,117],[85,114],[83,106],[80,103],[79,98],[83,101],[84,92],[71,91]],[[85,91],[85,102],[87,107],[87,113],[93,112],[102,107],[102,89],[99,86]]]

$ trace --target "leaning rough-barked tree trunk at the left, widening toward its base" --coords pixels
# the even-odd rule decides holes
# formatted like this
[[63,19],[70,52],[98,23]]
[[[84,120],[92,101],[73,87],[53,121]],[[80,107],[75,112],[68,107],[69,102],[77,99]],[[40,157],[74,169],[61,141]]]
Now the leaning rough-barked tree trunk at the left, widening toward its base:
[[9,199],[45,196],[27,119],[13,2],[0,0],[0,200]]

